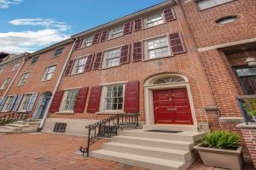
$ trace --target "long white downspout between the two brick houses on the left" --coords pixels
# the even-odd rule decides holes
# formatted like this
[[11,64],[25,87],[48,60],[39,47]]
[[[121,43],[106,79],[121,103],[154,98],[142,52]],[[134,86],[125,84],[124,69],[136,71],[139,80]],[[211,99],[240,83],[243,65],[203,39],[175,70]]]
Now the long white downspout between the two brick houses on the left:
[[58,88],[59,88],[59,85],[61,84],[61,79],[62,79],[62,77],[63,77],[63,74],[64,74],[65,70],[66,70],[66,66],[67,66],[68,61],[69,61],[69,59],[70,59],[70,57],[71,57],[71,54],[72,54],[72,52],[73,52],[73,48],[74,48],[75,42],[76,42],[76,41],[73,42],[73,46],[72,46],[72,48],[70,49],[70,52],[69,52],[69,54],[67,55],[67,59],[66,59],[64,65],[63,65],[63,67],[62,67],[60,77],[58,78],[58,81],[57,81],[57,83],[56,83],[56,85],[55,85],[55,89],[54,89],[54,91],[53,91],[53,93],[52,93],[52,97],[49,99],[49,104],[47,105],[47,108],[46,108],[46,111],[45,111],[43,120],[42,120],[42,122],[40,123],[40,126],[38,127],[39,130],[41,130],[41,129],[44,127],[44,122],[45,122],[45,120],[46,120],[46,118],[47,118],[47,116],[48,116],[48,114],[49,114],[49,107],[50,107],[51,102],[52,102],[52,100],[53,100],[53,98],[54,98],[54,96],[55,96],[56,91],[57,91]]

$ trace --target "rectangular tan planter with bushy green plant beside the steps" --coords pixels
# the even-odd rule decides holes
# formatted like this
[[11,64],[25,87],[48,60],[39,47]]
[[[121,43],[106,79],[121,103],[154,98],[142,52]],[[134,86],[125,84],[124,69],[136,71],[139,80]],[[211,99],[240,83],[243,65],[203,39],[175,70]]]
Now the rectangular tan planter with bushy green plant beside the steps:
[[240,139],[237,133],[214,131],[208,133],[194,149],[198,150],[206,166],[241,170],[243,159]]

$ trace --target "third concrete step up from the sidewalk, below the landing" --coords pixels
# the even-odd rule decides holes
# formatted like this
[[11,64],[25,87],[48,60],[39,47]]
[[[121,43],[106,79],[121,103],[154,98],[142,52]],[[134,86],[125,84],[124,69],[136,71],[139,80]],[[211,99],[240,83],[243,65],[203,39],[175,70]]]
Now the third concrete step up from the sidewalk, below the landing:
[[150,147],[165,148],[170,150],[192,150],[195,145],[193,142],[179,141],[179,140],[166,140],[166,139],[151,139],[151,138],[140,138],[132,136],[114,136],[111,139],[114,143],[122,144],[137,144]]

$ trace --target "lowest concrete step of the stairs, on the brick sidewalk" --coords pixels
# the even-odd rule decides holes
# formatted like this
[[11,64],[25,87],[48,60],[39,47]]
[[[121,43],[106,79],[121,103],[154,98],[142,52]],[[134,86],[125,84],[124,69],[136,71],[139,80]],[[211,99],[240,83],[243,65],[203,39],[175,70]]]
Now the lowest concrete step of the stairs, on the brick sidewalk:
[[166,159],[137,156],[109,150],[92,151],[90,156],[154,170],[185,170],[189,167],[188,164],[184,164],[181,161],[169,161]]

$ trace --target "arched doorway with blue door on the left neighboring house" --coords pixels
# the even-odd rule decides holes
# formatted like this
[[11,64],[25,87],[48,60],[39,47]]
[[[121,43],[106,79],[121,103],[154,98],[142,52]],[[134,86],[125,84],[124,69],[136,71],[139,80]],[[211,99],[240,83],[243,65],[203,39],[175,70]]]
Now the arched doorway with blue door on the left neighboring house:
[[51,96],[51,92],[44,92],[44,94],[40,96],[36,111],[32,116],[34,119],[43,119],[46,108],[49,105],[49,100]]

